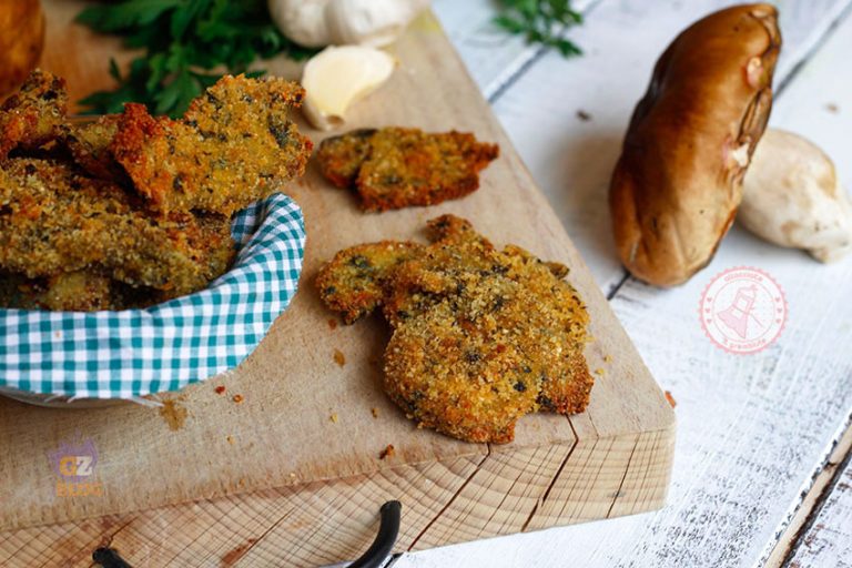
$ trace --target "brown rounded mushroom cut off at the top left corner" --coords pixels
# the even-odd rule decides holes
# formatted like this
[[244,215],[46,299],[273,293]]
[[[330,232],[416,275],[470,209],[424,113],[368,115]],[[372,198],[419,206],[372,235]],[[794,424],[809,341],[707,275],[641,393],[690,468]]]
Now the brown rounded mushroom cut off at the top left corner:
[[36,69],[44,48],[44,13],[39,0],[0,1],[0,100]]

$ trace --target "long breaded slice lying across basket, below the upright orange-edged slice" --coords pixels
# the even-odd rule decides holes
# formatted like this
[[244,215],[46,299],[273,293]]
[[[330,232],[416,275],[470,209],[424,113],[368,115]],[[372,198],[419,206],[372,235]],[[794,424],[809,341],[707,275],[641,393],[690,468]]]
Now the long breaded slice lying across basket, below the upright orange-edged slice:
[[233,251],[224,217],[153,220],[119,187],[47,160],[0,171],[0,267],[28,278],[98,268],[181,295],[224,272]]

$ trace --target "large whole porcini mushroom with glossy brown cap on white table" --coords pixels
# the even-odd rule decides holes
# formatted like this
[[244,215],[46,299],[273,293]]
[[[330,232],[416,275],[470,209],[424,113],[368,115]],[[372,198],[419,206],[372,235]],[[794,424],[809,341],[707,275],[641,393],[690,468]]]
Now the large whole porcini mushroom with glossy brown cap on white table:
[[609,191],[633,276],[673,286],[712,258],[769,119],[780,47],[772,6],[737,6],[693,23],[657,61]]

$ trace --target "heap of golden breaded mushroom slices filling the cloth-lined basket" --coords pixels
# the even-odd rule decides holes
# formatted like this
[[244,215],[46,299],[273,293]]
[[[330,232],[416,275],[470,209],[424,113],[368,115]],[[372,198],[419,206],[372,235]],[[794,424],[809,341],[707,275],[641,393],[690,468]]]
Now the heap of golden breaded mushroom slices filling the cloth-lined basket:
[[[141,105],[72,124],[36,71],[0,108],[0,306],[123,310],[205,287],[234,257],[230,215],[300,175],[301,88],[226,77],[181,121]],[[12,152],[13,158],[9,158]]]

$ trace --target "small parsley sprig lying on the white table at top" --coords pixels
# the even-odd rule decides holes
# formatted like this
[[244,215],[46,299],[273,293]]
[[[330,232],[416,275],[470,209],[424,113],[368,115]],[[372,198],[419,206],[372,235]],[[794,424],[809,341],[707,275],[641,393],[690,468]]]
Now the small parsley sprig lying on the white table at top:
[[504,30],[524,36],[527,43],[557,49],[564,57],[582,50],[565,37],[566,30],[582,23],[582,14],[571,8],[571,0],[498,0],[494,22]]

